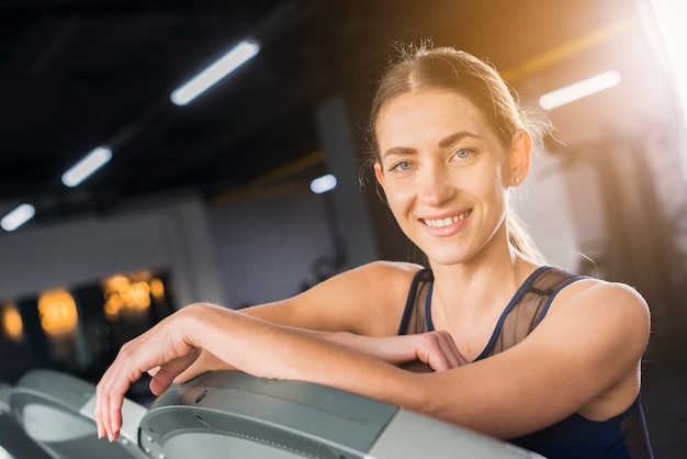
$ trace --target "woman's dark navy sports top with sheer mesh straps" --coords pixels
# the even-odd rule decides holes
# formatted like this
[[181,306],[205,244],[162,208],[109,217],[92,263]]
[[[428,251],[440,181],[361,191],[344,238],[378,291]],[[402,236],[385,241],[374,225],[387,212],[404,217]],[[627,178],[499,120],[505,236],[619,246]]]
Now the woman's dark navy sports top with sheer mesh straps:
[[[558,292],[579,279],[585,277],[552,267],[537,269],[513,296],[475,361],[525,339],[544,318]],[[415,275],[398,327],[399,335],[435,329],[431,321],[432,288],[433,276],[429,269]],[[653,458],[639,395],[626,412],[608,421],[594,422],[573,414],[550,427],[509,441],[549,459]]]

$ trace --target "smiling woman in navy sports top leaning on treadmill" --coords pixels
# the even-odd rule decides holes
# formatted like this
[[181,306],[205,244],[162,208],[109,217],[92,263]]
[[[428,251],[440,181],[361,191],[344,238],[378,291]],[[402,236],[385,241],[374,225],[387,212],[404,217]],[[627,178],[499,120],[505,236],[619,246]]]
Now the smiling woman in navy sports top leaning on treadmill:
[[[357,392],[549,457],[651,457],[644,300],[544,266],[509,209],[536,127],[481,60],[406,53],[373,102],[373,168],[431,270],[379,261],[243,312],[183,307],[122,347],[98,384],[99,435],[116,438],[124,394],[146,371],[159,394],[236,368]],[[429,371],[408,371],[413,362]]]

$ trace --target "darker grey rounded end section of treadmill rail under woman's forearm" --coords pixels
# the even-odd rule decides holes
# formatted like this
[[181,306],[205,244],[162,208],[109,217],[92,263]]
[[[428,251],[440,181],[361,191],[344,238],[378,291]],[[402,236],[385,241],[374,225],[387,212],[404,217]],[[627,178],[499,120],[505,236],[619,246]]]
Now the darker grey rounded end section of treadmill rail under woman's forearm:
[[187,457],[183,444],[211,458],[249,443],[260,457],[362,458],[397,410],[317,384],[214,372],[162,394],[139,444],[168,459]]

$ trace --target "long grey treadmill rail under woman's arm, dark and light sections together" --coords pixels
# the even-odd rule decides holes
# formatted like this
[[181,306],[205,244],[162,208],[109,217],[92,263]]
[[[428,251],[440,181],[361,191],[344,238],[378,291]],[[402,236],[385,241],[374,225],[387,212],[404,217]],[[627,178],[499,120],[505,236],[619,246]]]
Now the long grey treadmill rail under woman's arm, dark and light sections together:
[[174,385],[144,416],[150,457],[541,458],[372,399],[297,381],[215,372]]

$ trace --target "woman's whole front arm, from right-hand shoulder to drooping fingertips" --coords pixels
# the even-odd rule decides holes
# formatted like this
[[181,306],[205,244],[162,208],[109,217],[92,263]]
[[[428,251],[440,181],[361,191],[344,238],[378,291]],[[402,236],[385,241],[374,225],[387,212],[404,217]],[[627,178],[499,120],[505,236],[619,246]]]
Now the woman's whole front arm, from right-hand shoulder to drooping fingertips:
[[246,314],[188,306],[122,348],[98,385],[99,435],[116,437],[131,382],[160,366],[150,384],[160,393],[199,349],[254,376],[330,385],[500,438],[534,432],[575,412],[608,418],[637,396],[649,313],[628,288],[576,289],[518,346],[421,374]]

